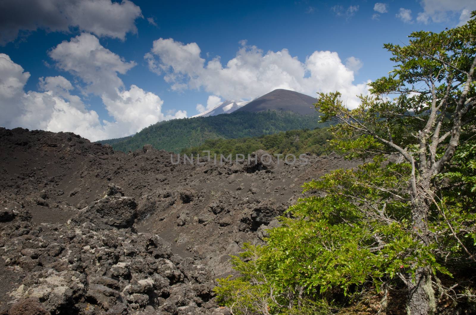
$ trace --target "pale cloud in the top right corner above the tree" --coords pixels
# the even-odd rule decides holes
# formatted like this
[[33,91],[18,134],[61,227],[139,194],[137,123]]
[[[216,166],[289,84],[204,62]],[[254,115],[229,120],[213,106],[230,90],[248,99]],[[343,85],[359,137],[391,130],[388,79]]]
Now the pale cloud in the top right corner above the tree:
[[429,23],[448,22],[450,18],[458,18],[459,25],[469,20],[470,12],[476,9],[474,0],[422,0],[423,12],[420,12],[417,21]]

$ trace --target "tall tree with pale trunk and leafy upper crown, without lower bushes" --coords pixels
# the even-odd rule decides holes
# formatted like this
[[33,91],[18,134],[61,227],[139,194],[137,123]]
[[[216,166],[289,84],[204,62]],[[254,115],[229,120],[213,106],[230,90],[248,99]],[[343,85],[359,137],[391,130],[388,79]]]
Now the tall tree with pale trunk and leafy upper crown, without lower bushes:
[[[429,228],[437,189],[433,178],[454,156],[465,128],[474,126],[476,22],[437,34],[414,32],[410,38],[407,46],[384,46],[395,69],[370,84],[373,95],[361,97],[358,108],[348,110],[339,93],[321,94],[317,106],[323,120],[337,120],[343,148],[357,155],[397,154],[410,164],[412,239],[431,246],[436,241]],[[362,138],[352,141],[355,136]],[[434,299],[431,268],[415,264],[405,278],[408,310],[428,314]]]

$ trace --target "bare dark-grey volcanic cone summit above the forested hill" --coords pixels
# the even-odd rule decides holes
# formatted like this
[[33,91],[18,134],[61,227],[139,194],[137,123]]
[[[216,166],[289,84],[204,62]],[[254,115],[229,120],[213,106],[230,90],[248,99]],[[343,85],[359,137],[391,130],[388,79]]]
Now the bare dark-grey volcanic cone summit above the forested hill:
[[316,98],[306,94],[287,89],[275,89],[238,108],[237,111],[290,110],[301,115],[307,115],[315,112],[314,103],[316,103]]

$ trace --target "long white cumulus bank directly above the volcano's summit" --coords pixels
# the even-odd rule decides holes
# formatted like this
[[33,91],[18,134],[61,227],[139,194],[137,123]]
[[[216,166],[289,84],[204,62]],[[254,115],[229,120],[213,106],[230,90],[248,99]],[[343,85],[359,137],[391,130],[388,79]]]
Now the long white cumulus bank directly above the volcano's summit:
[[[265,53],[243,43],[236,57],[225,64],[219,57],[206,62],[200,53],[197,43],[157,39],[146,59],[153,65],[152,71],[157,73],[160,69],[172,89],[204,89],[219,98],[237,101],[256,98],[274,89],[307,95],[339,90],[348,105],[356,107],[356,95],[367,94],[367,82],[353,83],[354,70],[362,66],[360,60],[349,58],[346,66],[336,52],[314,51],[301,62],[288,49]],[[197,108],[202,109],[205,109],[203,105]]]

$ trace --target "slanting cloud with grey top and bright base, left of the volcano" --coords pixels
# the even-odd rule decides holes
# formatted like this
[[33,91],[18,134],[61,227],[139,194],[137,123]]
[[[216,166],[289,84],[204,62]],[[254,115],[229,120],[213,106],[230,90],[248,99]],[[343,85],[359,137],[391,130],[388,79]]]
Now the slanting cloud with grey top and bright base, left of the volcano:
[[127,62],[104,48],[94,35],[83,33],[63,41],[49,54],[58,68],[86,84],[85,92],[102,99],[109,115],[115,119],[114,123],[103,121],[111,137],[128,136],[158,121],[187,117],[187,112],[180,110],[164,115],[159,96],[136,85],[124,89],[119,74],[125,74],[136,63]]

